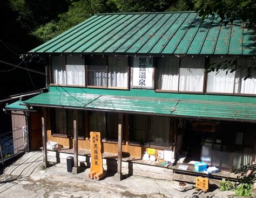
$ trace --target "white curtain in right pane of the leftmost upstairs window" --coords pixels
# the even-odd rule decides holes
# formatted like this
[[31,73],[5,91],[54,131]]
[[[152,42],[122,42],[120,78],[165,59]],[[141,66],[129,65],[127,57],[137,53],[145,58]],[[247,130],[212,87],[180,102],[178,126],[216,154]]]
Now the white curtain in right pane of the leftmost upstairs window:
[[66,84],[85,86],[85,65],[81,56],[67,56]]

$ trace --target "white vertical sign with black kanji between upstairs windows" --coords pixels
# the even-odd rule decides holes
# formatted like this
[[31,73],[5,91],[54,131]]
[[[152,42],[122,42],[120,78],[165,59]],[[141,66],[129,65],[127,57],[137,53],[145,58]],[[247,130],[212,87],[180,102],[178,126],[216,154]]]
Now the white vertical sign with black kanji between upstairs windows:
[[133,58],[132,87],[153,88],[153,58],[136,56]]

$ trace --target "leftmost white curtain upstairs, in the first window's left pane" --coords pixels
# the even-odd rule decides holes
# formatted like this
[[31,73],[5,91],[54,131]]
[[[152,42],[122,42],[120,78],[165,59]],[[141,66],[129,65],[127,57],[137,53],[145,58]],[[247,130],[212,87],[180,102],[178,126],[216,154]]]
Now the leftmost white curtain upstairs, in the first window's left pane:
[[66,84],[65,56],[52,56],[52,80],[55,84]]

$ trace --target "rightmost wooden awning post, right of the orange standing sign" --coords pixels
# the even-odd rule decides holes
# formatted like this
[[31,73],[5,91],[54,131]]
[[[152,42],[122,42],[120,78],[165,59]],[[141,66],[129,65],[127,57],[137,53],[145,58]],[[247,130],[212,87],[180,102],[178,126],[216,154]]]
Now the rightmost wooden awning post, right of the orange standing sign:
[[118,114],[118,151],[117,151],[117,173],[114,175],[114,180],[121,181],[122,174],[122,141],[123,141],[123,114]]

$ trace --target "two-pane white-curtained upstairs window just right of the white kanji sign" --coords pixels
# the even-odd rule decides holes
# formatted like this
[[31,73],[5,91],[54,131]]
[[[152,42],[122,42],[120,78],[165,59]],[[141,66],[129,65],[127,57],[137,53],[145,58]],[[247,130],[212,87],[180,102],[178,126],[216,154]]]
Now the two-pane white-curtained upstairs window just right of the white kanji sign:
[[203,92],[204,59],[159,58],[157,89],[168,91]]

